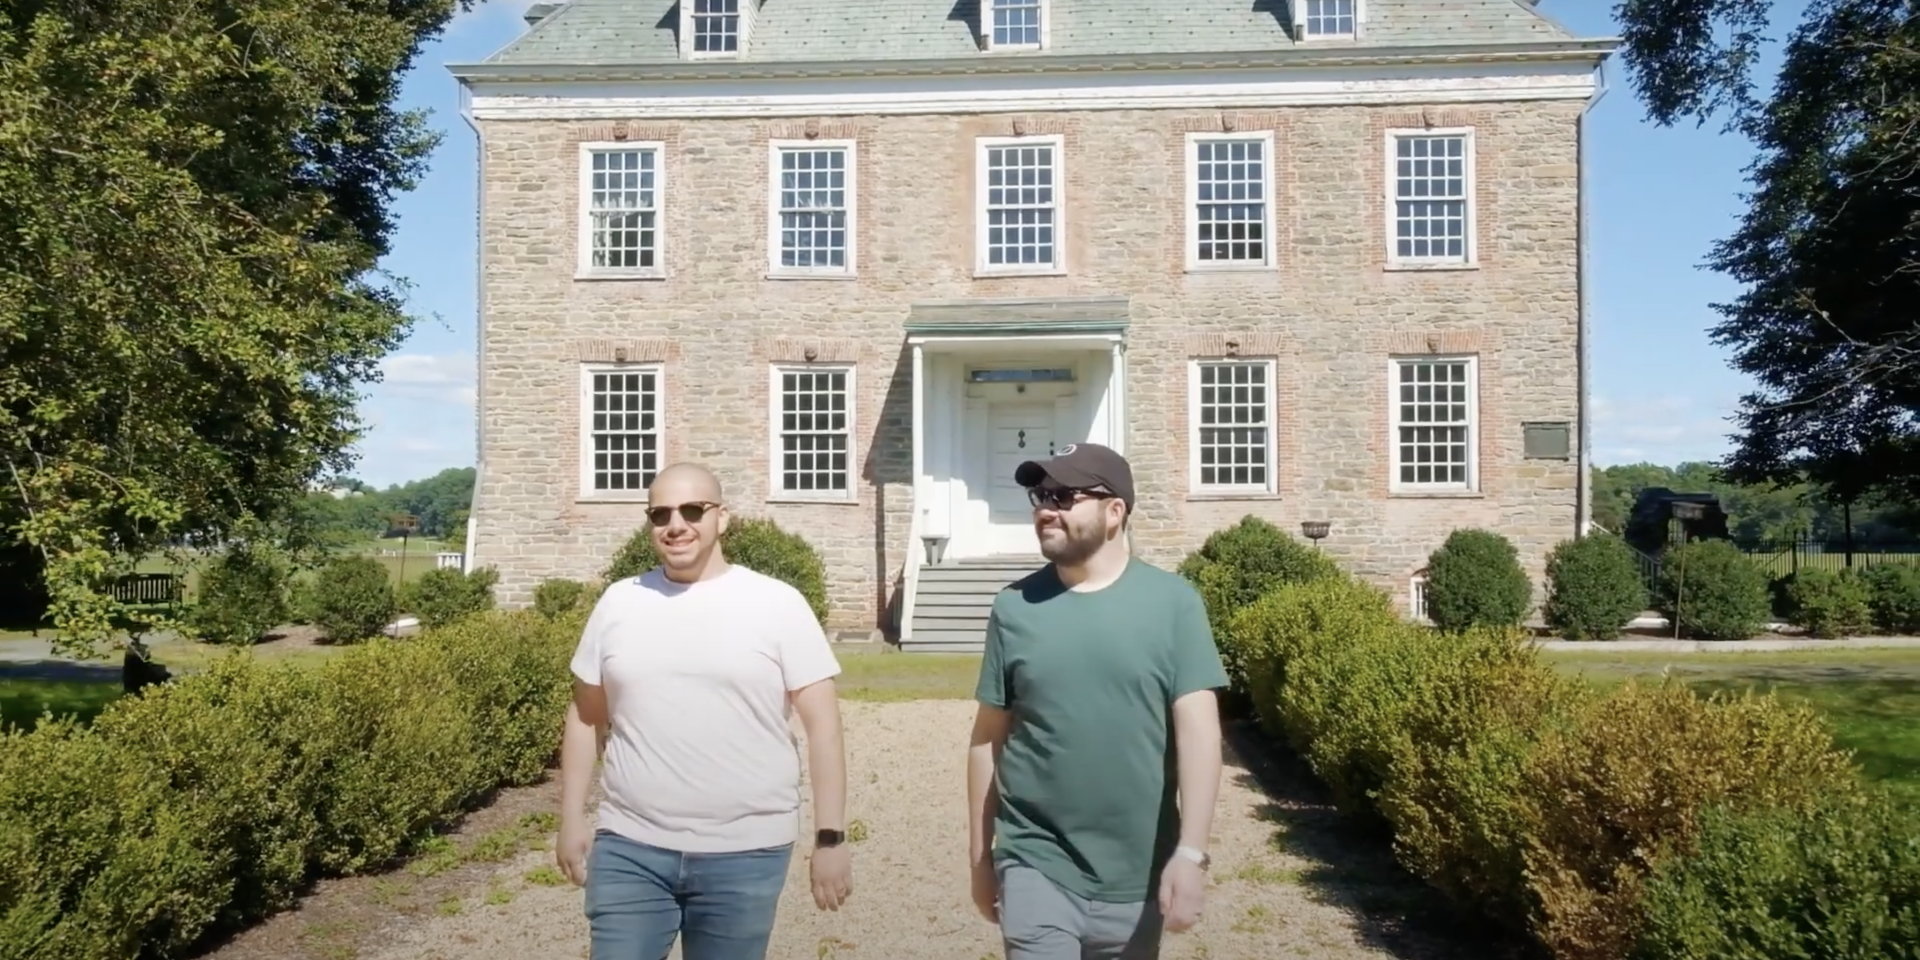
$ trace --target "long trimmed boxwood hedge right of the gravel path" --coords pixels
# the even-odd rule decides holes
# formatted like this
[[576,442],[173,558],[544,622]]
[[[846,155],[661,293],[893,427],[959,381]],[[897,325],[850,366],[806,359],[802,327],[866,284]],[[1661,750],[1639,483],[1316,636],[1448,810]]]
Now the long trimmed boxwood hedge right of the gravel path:
[[1334,804],[1555,960],[1920,956],[1920,814],[1807,707],[1599,689],[1523,630],[1415,626],[1344,574],[1277,586],[1231,634],[1261,726]]

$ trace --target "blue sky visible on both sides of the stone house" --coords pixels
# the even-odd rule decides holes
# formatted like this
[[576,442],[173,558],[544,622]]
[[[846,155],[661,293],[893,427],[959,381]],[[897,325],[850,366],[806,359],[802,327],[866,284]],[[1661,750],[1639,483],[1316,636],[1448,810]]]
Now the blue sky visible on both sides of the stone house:
[[[445,63],[474,61],[526,25],[524,0],[490,0],[428,46],[405,106],[432,111],[444,140],[422,184],[399,198],[384,267],[405,276],[419,317],[409,342],[367,392],[371,424],[357,476],[386,486],[474,463],[474,134]],[[1611,0],[1542,0],[1582,36],[1611,36]],[[1718,125],[1645,121],[1622,65],[1588,125],[1594,305],[1594,457],[1678,463],[1726,451],[1728,415],[1747,378],[1707,330],[1738,286],[1699,263],[1738,223],[1751,144]]]

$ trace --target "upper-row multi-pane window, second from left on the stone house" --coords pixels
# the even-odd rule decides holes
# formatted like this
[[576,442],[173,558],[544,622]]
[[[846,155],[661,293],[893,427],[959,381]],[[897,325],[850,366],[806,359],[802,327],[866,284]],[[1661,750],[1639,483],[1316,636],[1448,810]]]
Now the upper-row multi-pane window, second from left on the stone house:
[[774,148],[774,267],[843,273],[852,267],[852,150]]

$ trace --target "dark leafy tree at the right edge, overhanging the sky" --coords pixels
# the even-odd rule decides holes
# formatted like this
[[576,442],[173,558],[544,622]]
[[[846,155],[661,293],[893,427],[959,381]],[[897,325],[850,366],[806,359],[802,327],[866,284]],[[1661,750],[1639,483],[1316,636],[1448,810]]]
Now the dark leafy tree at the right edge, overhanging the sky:
[[1745,484],[1920,490],[1920,17],[1812,0],[1768,98],[1772,0],[1624,0],[1622,58],[1655,123],[1724,117],[1759,148],[1709,265],[1745,286],[1715,342],[1759,382],[1726,463]]

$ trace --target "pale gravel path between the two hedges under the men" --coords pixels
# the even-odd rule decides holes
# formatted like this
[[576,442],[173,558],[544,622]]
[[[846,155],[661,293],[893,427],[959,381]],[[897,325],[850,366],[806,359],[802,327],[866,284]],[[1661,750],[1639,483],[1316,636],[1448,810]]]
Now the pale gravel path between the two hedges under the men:
[[[841,912],[822,914],[806,891],[804,858],[795,858],[770,958],[1000,956],[996,929],[973,914],[966,885],[964,743],[972,710],[964,701],[845,705],[851,812],[866,831],[854,847],[854,895]],[[1331,810],[1263,793],[1238,760],[1229,760],[1225,780],[1206,922],[1169,937],[1165,960],[1488,956],[1404,929],[1400,916],[1430,904],[1394,876],[1379,841],[1336,837]],[[1350,847],[1365,852],[1350,856]],[[549,885],[549,851],[551,839],[547,849],[497,864],[463,899],[467,906],[422,910],[351,954],[586,958],[582,895]]]

